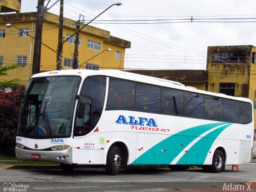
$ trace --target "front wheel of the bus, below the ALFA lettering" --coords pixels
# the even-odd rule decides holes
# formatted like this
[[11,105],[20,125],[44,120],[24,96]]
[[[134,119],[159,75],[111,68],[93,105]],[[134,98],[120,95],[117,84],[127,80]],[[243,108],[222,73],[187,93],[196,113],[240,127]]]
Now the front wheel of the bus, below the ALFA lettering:
[[117,175],[120,171],[122,163],[122,152],[118,146],[112,146],[108,150],[106,173],[108,175]]

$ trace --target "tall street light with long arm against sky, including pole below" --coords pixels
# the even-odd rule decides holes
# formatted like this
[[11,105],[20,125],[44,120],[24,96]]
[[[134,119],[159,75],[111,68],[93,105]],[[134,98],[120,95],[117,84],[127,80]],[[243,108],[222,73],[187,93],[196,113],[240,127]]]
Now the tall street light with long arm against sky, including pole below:
[[[57,50],[57,70],[61,70],[61,58],[62,58],[62,48],[63,48],[63,44],[64,42],[66,42],[67,40],[69,40],[72,36],[76,35],[80,30],[82,30],[83,28],[85,28],[88,24],[90,24],[92,21],[94,21],[97,17],[99,17],[101,14],[103,14],[104,12],[106,12],[106,10],[108,10],[109,8],[111,8],[112,6],[120,6],[122,5],[121,2],[116,2],[115,4],[110,5],[108,8],[106,8],[104,11],[102,11],[100,14],[98,14],[95,18],[93,18],[90,22],[88,22],[87,24],[85,24],[82,28],[80,28],[79,30],[77,30],[74,34],[72,34],[69,38],[67,38],[66,40],[64,40],[59,46],[58,46],[58,50]],[[97,56],[97,55],[96,55]]]

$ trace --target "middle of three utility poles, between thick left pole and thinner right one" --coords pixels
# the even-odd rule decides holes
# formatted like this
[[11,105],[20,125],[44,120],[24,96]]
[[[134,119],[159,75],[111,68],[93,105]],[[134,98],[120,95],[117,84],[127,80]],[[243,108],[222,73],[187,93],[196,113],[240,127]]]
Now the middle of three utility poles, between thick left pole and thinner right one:
[[62,68],[63,5],[64,5],[64,0],[60,0],[59,38],[58,38],[58,49],[57,49],[57,70],[61,70],[61,68]]

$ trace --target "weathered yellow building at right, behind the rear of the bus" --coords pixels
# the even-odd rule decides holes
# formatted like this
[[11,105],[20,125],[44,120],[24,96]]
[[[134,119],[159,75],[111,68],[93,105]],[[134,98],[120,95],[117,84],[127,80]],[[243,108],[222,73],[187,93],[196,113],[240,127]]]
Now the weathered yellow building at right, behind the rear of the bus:
[[208,91],[252,100],[256,129],[256,47],[211,46],[207,54]]

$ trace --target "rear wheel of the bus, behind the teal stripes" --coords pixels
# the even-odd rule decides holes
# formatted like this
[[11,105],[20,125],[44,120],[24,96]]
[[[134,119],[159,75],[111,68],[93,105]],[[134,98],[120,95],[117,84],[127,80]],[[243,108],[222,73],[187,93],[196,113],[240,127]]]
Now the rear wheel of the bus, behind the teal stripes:
[[210,166],[211,172],[220,173],[225,169],[225,158],[220,150],[216,150],[213,154],[212,165]]

